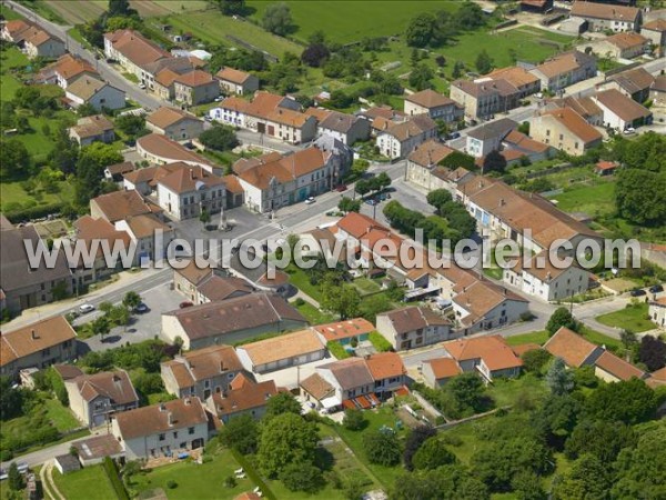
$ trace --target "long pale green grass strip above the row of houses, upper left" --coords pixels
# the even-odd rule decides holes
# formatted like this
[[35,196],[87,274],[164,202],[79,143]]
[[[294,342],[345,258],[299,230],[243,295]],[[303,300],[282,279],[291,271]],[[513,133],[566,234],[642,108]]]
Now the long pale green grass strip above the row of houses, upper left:
[[174,32],[189,31],[209,43],[242,47],[242,42],[245,42],[279,58],[284,52],[300,54],[303,51],[303,47],[297,43],[271,34],[251,22],[222,16],[218,11],[185,12],[162,19],[172,26]]

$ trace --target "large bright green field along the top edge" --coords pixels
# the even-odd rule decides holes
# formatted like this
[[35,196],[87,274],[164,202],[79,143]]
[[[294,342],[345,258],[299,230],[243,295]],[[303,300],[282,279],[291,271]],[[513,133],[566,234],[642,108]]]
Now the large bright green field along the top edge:
[[[252,14],[262,19],[271,2],[248,1],[256,9]],[[410,20],[420,12],[453,11],[457,2],[452,1],[286,1],[297,29],[293,36],[302,41],[317,30],[323,30],[334,42],[349,43],[364,37],[390,37],[404,32]]]

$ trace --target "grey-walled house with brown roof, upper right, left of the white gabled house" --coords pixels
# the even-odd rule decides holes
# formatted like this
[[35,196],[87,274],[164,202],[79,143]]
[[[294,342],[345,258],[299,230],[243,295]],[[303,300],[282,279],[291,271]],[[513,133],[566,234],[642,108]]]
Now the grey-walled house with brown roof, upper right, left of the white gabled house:
[[594,78],[596,71],[596,58],[577,50],[554,56],[529,70],[532,74],[541,80],[542,90],[549,90],[551,92],[558,92],[574,83]]

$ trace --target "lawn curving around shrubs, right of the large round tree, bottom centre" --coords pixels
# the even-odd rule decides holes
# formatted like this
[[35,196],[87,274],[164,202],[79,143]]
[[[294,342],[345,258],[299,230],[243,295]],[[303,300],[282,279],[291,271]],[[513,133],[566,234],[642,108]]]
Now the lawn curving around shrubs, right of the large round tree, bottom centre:
[[[382,407],[376,410],[366,410],[363,412],[363,416],[369,423],[367,427],[362,431],[351,431],[342,426],[335,427],[335,430],[351,448],[361,463],[363,463],[383,484],[384,489],[390,489],[393,486],[396,476],[402,472],[403,468],[402,466],[384,467],[370,463],[365,457],[365,450],[363,448],[363,436],[369,431],[379,430],[382,426],[396,429],[400,419],[395,413],[393,413],[393,410],[390,407]],[[402,427],[402,422],[401,429],[397,432],[401,437],[404,437],[407,432],[406,429]]]

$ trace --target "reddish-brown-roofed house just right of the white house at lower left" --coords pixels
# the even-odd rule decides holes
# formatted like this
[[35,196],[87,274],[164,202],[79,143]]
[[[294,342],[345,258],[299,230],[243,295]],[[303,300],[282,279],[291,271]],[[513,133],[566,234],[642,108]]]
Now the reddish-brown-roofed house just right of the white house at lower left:
[[238,374],[228,390],[215,392],[205,400],[211,413],[218,416],[222,423],[242,414],[261,419],[266,412],[269,400],[279,389],[273,380],[253,382],[243,373]]

